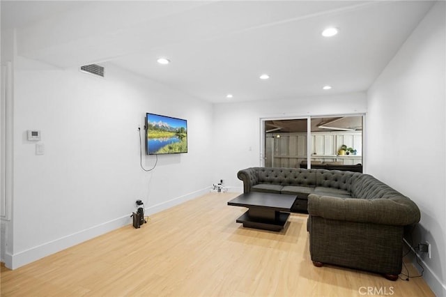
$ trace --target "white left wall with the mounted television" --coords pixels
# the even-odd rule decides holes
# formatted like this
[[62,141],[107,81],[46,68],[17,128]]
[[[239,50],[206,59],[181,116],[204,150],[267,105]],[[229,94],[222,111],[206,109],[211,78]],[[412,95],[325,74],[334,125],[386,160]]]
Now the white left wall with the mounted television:
[[[106,78],[17,56],[12,254],[17,268],[208,192],[213,106],[112,65]],[[187,119],[188,153],[139,164],[146,112]],[[26,140],[40,130],[45,155]],[[144,133],[142,135],[144,137]],[[144,153],[144,138],[143,138]],[[143,156],[144,167],[155,156]]]

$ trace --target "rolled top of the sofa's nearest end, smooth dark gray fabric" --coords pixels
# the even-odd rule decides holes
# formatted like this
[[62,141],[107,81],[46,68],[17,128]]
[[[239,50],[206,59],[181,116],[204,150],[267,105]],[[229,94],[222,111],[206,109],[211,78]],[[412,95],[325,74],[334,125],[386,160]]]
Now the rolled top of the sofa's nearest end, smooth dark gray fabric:
[[420,209],[407,197],[336,198],[310,194],[308,213],[330,220],[406,226],[420,222]]

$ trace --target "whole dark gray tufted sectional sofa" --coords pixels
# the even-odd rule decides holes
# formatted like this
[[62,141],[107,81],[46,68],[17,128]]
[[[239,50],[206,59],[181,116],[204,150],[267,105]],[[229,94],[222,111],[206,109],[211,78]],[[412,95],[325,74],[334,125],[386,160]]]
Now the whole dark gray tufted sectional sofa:
[[397,280],[404,229],[420,221],[420,209],[408,197],[358,172],[252,167],[237,176],[244,192],[296,195],[291,211],[309,213],[315,266],[346,266]]

